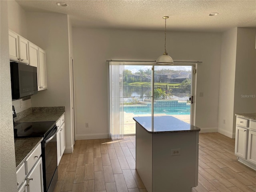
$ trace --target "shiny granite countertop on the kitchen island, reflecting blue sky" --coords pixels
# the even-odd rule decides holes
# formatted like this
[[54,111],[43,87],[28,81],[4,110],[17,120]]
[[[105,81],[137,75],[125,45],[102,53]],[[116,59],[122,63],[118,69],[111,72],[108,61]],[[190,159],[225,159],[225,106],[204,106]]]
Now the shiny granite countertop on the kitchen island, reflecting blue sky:
[[154,116],[154,126],[152,126],[151,116],[134,117],[133,119],[150,134],[200,131],[200,128],[173,116]]

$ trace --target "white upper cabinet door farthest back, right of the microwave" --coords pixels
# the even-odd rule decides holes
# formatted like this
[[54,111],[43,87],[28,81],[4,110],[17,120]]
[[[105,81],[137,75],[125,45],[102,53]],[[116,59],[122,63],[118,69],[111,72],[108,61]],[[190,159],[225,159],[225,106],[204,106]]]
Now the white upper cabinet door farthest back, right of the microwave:
[[39,82],[40,86],[38,90],[47,89],[47,78],[46,78],[46,52],[39,48]]

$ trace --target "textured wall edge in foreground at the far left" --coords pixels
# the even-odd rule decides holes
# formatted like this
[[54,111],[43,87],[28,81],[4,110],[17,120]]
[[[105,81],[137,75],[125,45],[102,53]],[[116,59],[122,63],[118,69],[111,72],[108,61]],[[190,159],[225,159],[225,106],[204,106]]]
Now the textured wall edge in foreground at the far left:
[[0,191],[17,191],[7,2],[0,1]]

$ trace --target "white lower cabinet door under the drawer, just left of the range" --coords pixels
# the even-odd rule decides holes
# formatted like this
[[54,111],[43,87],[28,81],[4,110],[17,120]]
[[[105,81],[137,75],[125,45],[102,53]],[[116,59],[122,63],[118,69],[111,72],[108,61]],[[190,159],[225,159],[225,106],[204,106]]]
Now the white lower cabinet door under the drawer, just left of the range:
[[28,192],[43,192],[43,170],[42,170],[42,157],[36,162],[34,168],[26,178]]

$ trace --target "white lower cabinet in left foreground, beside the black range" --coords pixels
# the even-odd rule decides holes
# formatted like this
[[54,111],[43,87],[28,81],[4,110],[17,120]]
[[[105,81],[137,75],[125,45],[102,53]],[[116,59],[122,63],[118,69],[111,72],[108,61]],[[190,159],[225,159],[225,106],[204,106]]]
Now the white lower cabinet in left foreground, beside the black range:
[[41,157],[41,144],[26,158],[17,170],[18,192],[43,192],[43,168]]

